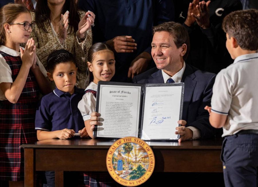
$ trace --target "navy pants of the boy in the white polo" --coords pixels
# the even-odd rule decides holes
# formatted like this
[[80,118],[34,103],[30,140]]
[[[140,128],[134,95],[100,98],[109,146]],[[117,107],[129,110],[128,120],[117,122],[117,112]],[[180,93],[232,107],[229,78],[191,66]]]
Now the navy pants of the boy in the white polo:
[[221,160],[226,187],[258,187],[258,134],[225,137]]

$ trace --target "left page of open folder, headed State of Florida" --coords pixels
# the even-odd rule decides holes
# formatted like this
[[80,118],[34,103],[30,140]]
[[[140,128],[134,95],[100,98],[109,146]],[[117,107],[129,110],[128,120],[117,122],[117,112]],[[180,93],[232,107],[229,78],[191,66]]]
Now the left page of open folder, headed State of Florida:
[[[111,85],[112,84],[112,85]],[[101,114],[101,125],[96,137],[138,137],[143,85],[100,81],[97,92],[96,112]]]

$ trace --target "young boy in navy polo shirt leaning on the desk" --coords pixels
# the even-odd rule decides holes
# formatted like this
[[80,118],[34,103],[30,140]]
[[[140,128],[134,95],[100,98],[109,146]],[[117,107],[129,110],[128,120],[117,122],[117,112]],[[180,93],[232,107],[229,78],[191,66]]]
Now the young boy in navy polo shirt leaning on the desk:
[[[47,75],[56,89],[44,96],[36,111],[38,140],[68,139],[79,133],[88,137],[83,117],[77,107],[84,90],[75,86],[77,67],[67,50],[56,50],[47,58]],[[54,186],[54,171],[46,172],[47,186]]]

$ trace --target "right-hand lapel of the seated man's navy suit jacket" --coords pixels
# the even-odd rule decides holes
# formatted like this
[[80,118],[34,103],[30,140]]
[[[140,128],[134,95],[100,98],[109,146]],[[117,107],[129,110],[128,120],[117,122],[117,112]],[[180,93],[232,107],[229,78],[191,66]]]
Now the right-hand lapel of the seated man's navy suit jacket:
[[195,77],[193,69],[188,64],[185,64],[185,71],[182,77],[182,82],[185,83],[182,119],[187,119],[188,106],[192,102],[193,91],[196,86],[196,81],[193,80]]

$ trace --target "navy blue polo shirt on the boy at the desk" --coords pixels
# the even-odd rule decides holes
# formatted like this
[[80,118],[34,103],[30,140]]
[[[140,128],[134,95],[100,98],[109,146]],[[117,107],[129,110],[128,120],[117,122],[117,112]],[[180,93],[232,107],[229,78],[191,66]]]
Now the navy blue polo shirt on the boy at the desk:
[[44,96],[36,111],[35,129],[55,131],[64,128],[75,133],[85,127],[78,103],[84,95],[84,89],[75,87],[73,95],[54,89]]

